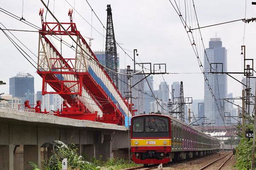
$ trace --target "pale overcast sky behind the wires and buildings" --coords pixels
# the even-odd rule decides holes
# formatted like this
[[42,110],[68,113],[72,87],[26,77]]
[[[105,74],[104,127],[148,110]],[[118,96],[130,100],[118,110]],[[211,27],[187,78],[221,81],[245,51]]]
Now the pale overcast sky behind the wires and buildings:
[[[169,0],[88,1],[104,25],[106,25],[106,5],[111,4],[116,41],[123,43],[124,45],[122,46],[125,49],[132,51],[137,48],[140,59],[143,62],[166,63],[168,72],[200,72],[185,29]],[[178,3],[178,0],[176,1]],[[47,0],[45,2],[47,3]],[[52,11],[53,2],[54,0],[49,0],[49,8]],[[68,0],[68,2],[72,5],[74,4],[74,0]],[[190,2],[192,3],[192,0]],[[194,0],[194,2],[200,26],[244,18],[244,0]],[[183,3],[180,0],[181,8],[183,8]],[[23,17],[27,21],[41,26],[38,11],[42,7],[40,0],[24,0]],[[1,8],[21,17],[22,0],[3,1],[1,2]],[[54,11],[59,21],[69,22],[69,17],[67,16],[69,8],[70,6],[65,0],[55,0]],[[76,0],[75,9],[90,22],[91,10],[84,0]],[[44,16],[45,14],[46,10],[44,10]],[[82,35],[90,37],[91,27],[79,14],[75,12],[74,22]],[[183,17],[185,17],[185,14],[183,14]],[[246,18],[250,17],[256,17],[256,6],[252,6],[251,1],[247,1]],[[0,12],[0,18],[0,22],[7,28],[35,30],[2,12]],[[47,21],[52,22],[52,17],[49,13],[47,14]],[[103,34],[103,28],[94,15],[93,26]],[[245,45],[248,58],[255,58],[253,53],[256,38],[255,27],[255,23],[246,24]],[[221,38],[223,46],[227,48],[228,71],[241,71],[240,53],[244,34],[244,23],[242,21],[204,28],[201,33],[206,48],[208,47],[209,38],[215,37],[215,33],[217,33],[217,37]],[[38,33],[13,32],[13,34],[35,54],[38,53]],[[93,30],[92,37],[94,38],[92,49],[102,50],[102,44],[105,44],[102,35]],[[0,39],[0,79],[7,83],[0,87],[0,92],[9,94],[9,78],[15,76],[18,71],[32,74],[35,77],[35,91],[41,91],[41,77],[35,73],[35,68],[17,51],[3,32],[0,32]],[[120,68],[125,68],[125,65],[132,64],[131,59],[127,56],[125,57],[124,52],[119,48],[118,52]],[[131,52],[128,52],[128,54],[133,56]],[[32,54],[31,56],[36,61],[36,57]],[[70,56],[64,55],[64,57]],[[161,75],[154,77],[157,84],[163,81]],[[169,85],[174,81],[183,81],[185,96],[191,96],[193,99],[204,98],[204,78],[202,74],[169,74],[164,77]],[[235,77],[241,79],[241,75],[235,75]],[[233,96],[241,95],[241,85],[229,77],[228,93],[233,93]]]

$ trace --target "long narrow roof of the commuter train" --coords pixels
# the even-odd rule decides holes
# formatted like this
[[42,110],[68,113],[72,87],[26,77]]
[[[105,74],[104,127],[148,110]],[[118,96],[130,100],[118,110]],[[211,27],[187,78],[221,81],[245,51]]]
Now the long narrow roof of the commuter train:
[[[176,119],[175,117],[173,117],[173,116],[171,116],[171,115],[169,115],[169,114],[167,114],[167,113],[158,113],[158,114],[153,114],[153,113],[150,113],[150,114],[140,114],[140,115],[137,115],[137,116],[133,116],[132,118],[135,118],[135,117],[143,117],[143,116],[164,116],[164,117],[169,117],[172,121],[177,122],[177,123],[180,123],[181,125],[187,126],[187,127],[191,128],[191,129],[193,129],[193,130],[197,131],[198,133],[202,133],[202,134],[204,134],[205,136],[208,136],[208,137],[210,137],[210,138],[212,138],[212,139],[217,139],[216,137],[214,137],[214,136],[210,136],[210,135],[208,135],[208,134],[206,134],[206,133],[202,132],[201,130],[199,130],[199,129],[197,129],[197,128],[193,127],[192,125],[188,125],[188,124],[186,124],[186,123],[184,123],[184,122],[180,121],[179,119]],[[217,140],[218,140],[218,139],[217,139]]]

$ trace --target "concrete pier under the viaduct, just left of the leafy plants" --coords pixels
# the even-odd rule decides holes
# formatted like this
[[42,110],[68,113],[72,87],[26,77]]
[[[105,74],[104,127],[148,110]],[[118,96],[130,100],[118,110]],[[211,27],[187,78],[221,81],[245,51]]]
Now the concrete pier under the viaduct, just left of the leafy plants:
[[23,169],[32,170],[33,168],[28,164],[28,161],[32,161],[41,167],[41,147],[40,145],[24,145],[23,147]]

